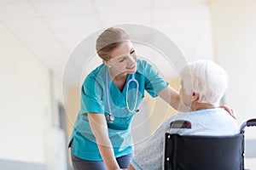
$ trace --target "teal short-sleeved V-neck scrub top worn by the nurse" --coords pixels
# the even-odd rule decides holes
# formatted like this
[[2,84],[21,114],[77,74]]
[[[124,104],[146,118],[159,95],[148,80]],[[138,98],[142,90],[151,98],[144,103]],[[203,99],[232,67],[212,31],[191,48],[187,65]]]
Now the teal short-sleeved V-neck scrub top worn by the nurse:
[[[84,160],[102,161],[96,139],[90,129],[87,113],[104,114],[107,121],[109,111],[106,88],[108,88],[112,115],[115,117],[112,123],[107,121],[108,136],[113,145],[114,156],[125,156],[133,152],[131,121],[135,112],[126,110],[127,83],[125,83],[123,90],[120,91],[108,76],[107,87],[107,69],[106,65],[99,65],[85,78],[81,88],[81,108],[68,145],[70,147],[73,141],[73,155]],[[137,59],[137,71],[134,76],[139,84],[136,110],[143,101],[145,90],[152,97],[156,97],[160,90],[168,86],[168,83],[160,77],[159,72],[155,71],[152,65],[149,65],[145,60]],[[126,82],[130,79],[131,75],[128,75]],[[131,82],[128,90],[128,105],[130,109],[134,107],[136,93],[136,83]]]

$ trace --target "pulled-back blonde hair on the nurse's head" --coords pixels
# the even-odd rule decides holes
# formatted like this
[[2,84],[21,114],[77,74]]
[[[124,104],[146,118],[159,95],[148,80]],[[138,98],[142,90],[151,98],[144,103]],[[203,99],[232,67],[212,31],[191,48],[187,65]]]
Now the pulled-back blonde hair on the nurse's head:
[[96,52],[102,59],[108,61],[109,53],[130,39],[129,35],[119,28],[108,28],[96,39]]

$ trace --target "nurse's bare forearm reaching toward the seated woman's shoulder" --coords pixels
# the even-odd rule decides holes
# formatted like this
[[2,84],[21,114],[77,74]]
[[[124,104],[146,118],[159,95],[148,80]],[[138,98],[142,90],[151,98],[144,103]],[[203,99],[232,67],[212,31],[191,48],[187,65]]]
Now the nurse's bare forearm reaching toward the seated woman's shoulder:
[[171,105],[175,110],[178,110],[180,98],[175,89],[173,89],[171,86],[167,86],[166,88],[162,89],[158,95],[161,99],[164,99],[167,104]]

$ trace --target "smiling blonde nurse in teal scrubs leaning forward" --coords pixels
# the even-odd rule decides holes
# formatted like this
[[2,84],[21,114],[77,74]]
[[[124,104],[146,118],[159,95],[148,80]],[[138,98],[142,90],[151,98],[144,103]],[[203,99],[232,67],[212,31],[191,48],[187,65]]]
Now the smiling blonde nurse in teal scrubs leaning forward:
[[96,40],[102,65],[85,78],[69,142],[75,170],[125,169],[133,156],[131,121],[144,91],[177,109],[179,95],[152,65],[137,59],[125,31],[108,28]]

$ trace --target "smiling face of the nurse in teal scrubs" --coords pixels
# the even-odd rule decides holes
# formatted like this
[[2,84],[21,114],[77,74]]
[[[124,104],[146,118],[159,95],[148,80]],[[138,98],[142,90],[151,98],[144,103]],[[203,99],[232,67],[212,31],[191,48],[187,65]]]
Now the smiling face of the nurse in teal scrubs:
[[110,53],[107,64],[118,74],[132,74],[137,71],[137,55],[131,42],[123,42]]

